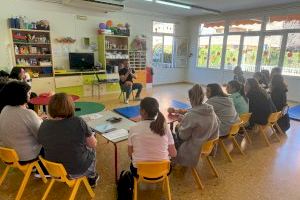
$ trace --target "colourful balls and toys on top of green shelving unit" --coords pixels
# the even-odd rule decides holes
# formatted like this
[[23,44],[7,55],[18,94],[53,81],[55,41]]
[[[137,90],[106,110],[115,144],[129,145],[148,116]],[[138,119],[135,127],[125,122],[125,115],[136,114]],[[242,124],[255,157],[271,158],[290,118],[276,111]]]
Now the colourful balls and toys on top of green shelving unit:
[[106,23],[99,24],[99,34],[106,35],[122,35],[129,36],[130,35],[130,26],[128,23],[125,25],[117,24],[117,26],[113,26],[112,20],[108,20]]

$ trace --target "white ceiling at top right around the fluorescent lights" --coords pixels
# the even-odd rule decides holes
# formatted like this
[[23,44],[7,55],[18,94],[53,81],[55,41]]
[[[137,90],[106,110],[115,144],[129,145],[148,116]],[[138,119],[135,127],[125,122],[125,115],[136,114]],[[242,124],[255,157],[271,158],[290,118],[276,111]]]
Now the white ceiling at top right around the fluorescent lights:
[[[265,6],[274,6],[277,4],[286,4],[296,2],[297,0],[176,0],[178,2],[188,3],[195,6],[201,6],[219,10],[221,12],[244,10],[251,8],[259,8]],[[133,8],[138,10],[146,10],[150,12],[158,12],[169,15],[179,16],[194,16],[209,14],[209,12],[193,8],[191,10],[176,8],[167,5],[161,5],[153,2],[147,2],[145,0],[125,0],[125,6],[127,8]]]

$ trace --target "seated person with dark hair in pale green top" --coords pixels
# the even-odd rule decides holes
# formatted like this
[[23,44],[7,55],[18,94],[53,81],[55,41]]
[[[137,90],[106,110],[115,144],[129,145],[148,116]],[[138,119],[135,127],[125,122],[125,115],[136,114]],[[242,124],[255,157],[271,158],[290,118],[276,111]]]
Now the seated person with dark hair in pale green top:
[[233,101],[236,112],[241,115],[249,112],[248,99],[244,92],[244,86],[238,81],[230,81],[226,87],[227,93]]

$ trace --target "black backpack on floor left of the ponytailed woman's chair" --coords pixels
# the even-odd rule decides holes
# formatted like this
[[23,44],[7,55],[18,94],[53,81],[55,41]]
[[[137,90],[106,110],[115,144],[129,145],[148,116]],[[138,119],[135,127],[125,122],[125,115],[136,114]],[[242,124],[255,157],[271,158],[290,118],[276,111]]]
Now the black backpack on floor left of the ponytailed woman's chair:
[[133,175],[130,171],[123,170],[117,185],[117,200],[132,200],[133,197]]

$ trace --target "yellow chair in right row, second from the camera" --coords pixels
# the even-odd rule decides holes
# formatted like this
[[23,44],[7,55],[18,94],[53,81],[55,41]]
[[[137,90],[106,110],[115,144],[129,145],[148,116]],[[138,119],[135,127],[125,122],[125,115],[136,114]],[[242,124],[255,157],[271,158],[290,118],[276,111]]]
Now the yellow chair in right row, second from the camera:
[[230,156],[230,153],[226,149],[226,146],[225,146],[223,140],[224,139],[230,139],[233,142],[233,144],[236,146],[236,148],[241,152],[241,154],[245,155],[245,153],[242,151],[241,146],[239,145],[239,143],[235,139],[235,136],[238,134],[242,123],[243,123],[243,121],[240,121],[240,122],[237,122],[237,123],[231,125],[228,135],[219,138],[219,143],[220,143],[222,149],[224,150],[224,153],[225,153],[226,157],[228,158],[228,160],[230,162],[232,162],[233,160],[232,160],[232,157]]

